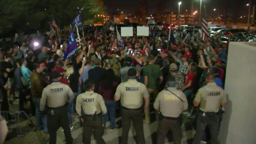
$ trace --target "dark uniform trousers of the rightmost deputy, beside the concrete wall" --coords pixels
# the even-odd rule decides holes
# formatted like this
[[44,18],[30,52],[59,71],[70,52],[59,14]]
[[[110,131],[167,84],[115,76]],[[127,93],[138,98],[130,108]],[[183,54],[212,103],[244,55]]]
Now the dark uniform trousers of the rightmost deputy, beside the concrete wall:
[[215,112],[204,113],[200,111],[197,117],[197,130],[193,144],[200,144],[206,126],[209,127],[211,133],[211,144],[219,144],[219,115]]

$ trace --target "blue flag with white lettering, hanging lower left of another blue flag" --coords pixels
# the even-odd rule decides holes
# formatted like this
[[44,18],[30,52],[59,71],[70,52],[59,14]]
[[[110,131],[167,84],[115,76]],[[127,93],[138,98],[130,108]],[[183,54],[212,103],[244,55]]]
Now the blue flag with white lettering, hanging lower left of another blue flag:
[[71,29],[69,35],[69,43],[67,44],[67,50],[64,53],[63,59],[70,59],[77,49],[77,41],[75,40],[73,29]]

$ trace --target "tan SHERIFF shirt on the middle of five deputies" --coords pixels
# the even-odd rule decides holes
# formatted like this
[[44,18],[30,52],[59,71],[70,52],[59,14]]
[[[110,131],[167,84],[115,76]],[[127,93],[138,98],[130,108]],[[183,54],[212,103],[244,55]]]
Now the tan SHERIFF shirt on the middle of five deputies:
[[143,97],[149,97],[149,93],[143,83],[137,82],[136,79],[129,79],[127,82],[120,83],[115,96],[121,97],[122,106],[138,109],[142,106]]

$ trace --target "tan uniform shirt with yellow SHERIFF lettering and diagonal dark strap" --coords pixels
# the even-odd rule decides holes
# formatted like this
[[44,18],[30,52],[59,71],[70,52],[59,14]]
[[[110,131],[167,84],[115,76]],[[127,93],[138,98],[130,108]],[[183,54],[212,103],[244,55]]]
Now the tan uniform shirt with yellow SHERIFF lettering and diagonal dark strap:
[[167,88],[168,90],[162,90],[154,102],[154,108],[159,109],[165,117],[177,118],[182,113],[182,111],[187,109],[187,98],[185,94],[181,90],[177,90],[177,88]]

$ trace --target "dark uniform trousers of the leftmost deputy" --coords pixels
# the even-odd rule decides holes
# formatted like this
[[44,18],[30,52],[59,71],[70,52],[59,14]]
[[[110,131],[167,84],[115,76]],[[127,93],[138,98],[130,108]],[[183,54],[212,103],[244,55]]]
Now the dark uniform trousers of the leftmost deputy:
[[64,130],[66,143],[72,144],[73,138],[71,136],[69,127],[69,118],[67,117],[67,107],[61,106],[57,108],[48,107],[47,111],[47,128],[50,135],[49,144],[56,144],[57,130],[62,127]]

